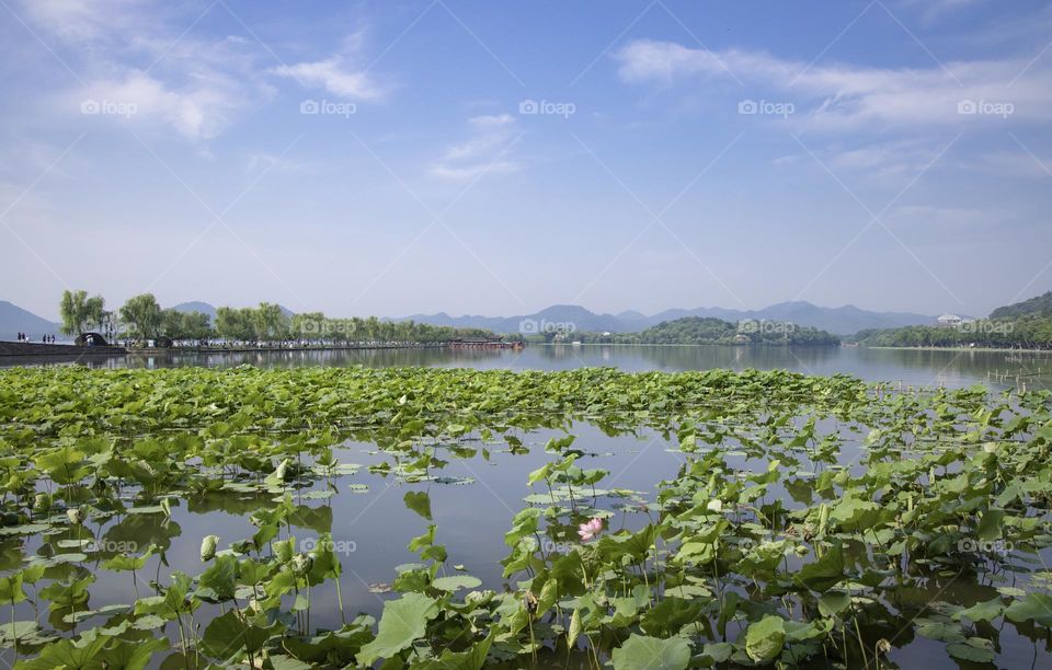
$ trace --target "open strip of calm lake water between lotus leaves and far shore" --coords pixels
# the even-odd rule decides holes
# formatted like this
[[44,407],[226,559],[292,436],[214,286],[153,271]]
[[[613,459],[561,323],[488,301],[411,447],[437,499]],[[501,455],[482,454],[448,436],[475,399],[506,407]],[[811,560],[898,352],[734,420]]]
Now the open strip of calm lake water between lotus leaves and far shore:
[[[54,358],[0,358],[12,365],[69,365]],[[995,389],[1026,384],[1027,389],[1052,385],[1052,353],[868,349],[860,347],[730,347],[647,345],[551,345],[511,349],[343,349],[316,351],[250,351],[231,354],[129,355],[106,359],[81,359],[92,368],[172,368],[203,366],[228,368],[241,365],[261,368],[302,366],[437,366],[508,368],[513,370],[569,370],[585,366],[614,367],[627,371],[787,369],[807,374],[851,374],[867,381],[888,381],[915,386],[970,386]]]

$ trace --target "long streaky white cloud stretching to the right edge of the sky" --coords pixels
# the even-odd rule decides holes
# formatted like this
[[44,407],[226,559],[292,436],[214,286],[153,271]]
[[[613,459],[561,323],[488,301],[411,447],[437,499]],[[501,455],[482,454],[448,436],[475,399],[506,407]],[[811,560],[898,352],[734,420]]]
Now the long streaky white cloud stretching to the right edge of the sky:
[[[1008,103],[1011,118],[1052,120],[1052,77],[1028,59],[956,61],[928,68],[808,67],[759,51],[709,51],[673,42],[637,41],[615,57],[630,83],[734,78],[742,97],[781,95],[796,104],[793,123],[811,129],[856,130],[1003,122],[996,114],[960,114],[962,101]],[[810,109],[804,114],[802,111]]]

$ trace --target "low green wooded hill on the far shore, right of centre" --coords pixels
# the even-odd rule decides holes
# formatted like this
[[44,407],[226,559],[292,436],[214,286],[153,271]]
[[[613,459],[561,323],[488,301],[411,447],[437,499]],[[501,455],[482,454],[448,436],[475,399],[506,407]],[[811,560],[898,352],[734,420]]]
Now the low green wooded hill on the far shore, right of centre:
[[839,338],[825,331],[774,321],[742,321],[686,316],[665,321],[639,333],[554,333],[547,339],[582,343],[659,345],[838,345]]

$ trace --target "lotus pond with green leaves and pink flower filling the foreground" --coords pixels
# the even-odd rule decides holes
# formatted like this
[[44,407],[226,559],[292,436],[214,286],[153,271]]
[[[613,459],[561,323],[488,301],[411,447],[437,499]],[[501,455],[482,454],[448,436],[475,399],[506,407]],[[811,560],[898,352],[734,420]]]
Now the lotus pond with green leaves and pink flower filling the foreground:
[[1052,394],[0,371],[16,668],[1052,665]]

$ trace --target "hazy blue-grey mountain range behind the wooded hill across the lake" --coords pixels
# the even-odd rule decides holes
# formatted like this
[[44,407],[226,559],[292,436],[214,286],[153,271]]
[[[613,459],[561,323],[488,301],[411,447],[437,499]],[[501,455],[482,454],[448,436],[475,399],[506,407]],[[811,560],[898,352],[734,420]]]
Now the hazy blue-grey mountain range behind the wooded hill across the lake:
[[445,312],[439,312],[437,314],[413,314],[393,321],[411,319],[419,323],[432,325],[489,328],[494,333],[518,333],[535,327],[537,330],[544,330],[546,326],[557,327],[550,324],[573,324],[572,327],[579,332],[634,333],[684,316],[711,316],[731,322],[743,319],[788,321],[799,326],[811,326],[835,335],[850,335],[867,328],[895,328],[935,323],[935,316],[925,314],[872,312],[850,304],[839,308],[824,308],[805,301],[780,302],[761,310],[675,309],[665,310],[650,316],[637,311],[620,312],[619,314],[596,314],[580,305],[557,304],[533,314],[518,316],[450,316]]

